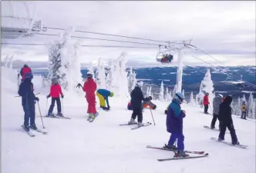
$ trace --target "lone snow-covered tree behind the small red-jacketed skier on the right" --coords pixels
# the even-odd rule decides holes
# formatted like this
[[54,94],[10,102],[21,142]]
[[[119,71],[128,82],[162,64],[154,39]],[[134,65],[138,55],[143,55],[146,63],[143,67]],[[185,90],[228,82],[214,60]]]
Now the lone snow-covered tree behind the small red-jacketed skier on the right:
[[203,105],[204,95],[206,93],[209,93],[209,102],[210,102],[210,105],[212,105],[213,99],[214,99],[213,91],[214,91],[214,82],[212,82],[211,80],[210,69],[207,69],[207,72],[204,75],[204,79],[200,85],[200,91],[198,93],[199,104]]

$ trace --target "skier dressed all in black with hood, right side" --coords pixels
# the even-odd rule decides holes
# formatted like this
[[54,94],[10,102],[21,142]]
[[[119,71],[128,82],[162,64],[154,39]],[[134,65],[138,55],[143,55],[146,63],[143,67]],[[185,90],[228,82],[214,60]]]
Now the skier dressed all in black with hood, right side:
[[221,132],[218,140],[219,141],[224,140],[225,131],[226,131],[226,128],[228,128],[228,130],[231,132],[232,144],[239,145],[239,142],[237,140],[237,135],[234,130],[232,115],[231,115],[232,99],[233,98],[230,95],[228,95],[220,105],[220,110],[218,115],[219,115],[219,120],[221,124]]

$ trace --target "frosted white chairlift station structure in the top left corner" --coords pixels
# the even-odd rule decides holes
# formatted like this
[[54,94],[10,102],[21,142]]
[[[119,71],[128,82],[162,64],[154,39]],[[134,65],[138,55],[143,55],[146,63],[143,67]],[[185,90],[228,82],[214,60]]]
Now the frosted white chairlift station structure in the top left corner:
[[[2,38],[15,39],[33,36],[35,32],[46,31],[41,21],[34,21],[35,5],[30,2],[2,2]],[[33,13],[33,15],[32,15]]]

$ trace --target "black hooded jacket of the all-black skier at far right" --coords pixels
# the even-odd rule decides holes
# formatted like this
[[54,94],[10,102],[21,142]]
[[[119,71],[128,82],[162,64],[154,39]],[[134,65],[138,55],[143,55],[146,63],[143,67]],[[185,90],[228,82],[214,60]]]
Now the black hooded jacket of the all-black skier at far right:
[[232,109],[231,109],[232,97],[227,96],[220,105],[219,119],[224,125],[233,124],[232,120]]

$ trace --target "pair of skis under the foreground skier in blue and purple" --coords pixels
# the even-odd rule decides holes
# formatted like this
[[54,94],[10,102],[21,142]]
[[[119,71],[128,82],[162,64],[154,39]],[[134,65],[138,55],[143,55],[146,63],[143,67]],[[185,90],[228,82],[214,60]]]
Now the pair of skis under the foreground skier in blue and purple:
[[[177,150],[172,150],[172,149],[163,148],[163,147],[153,147],[151,145],[147,145],[147,148],[177,152]],[[187,156],[187,157],[175,157],[175,156],[173,156],[173,158],[160,158],[160,159],[157,159],[157,161],[171,161],[171,160],[180,160],[180,159],[188,159],[188,158],[204,158],[204,157],[207,157],[209,155],[208,153],[204,154],[204,151],[185,151],[185,152],[190,153],[190,154],[197,154],[197,155]]]

